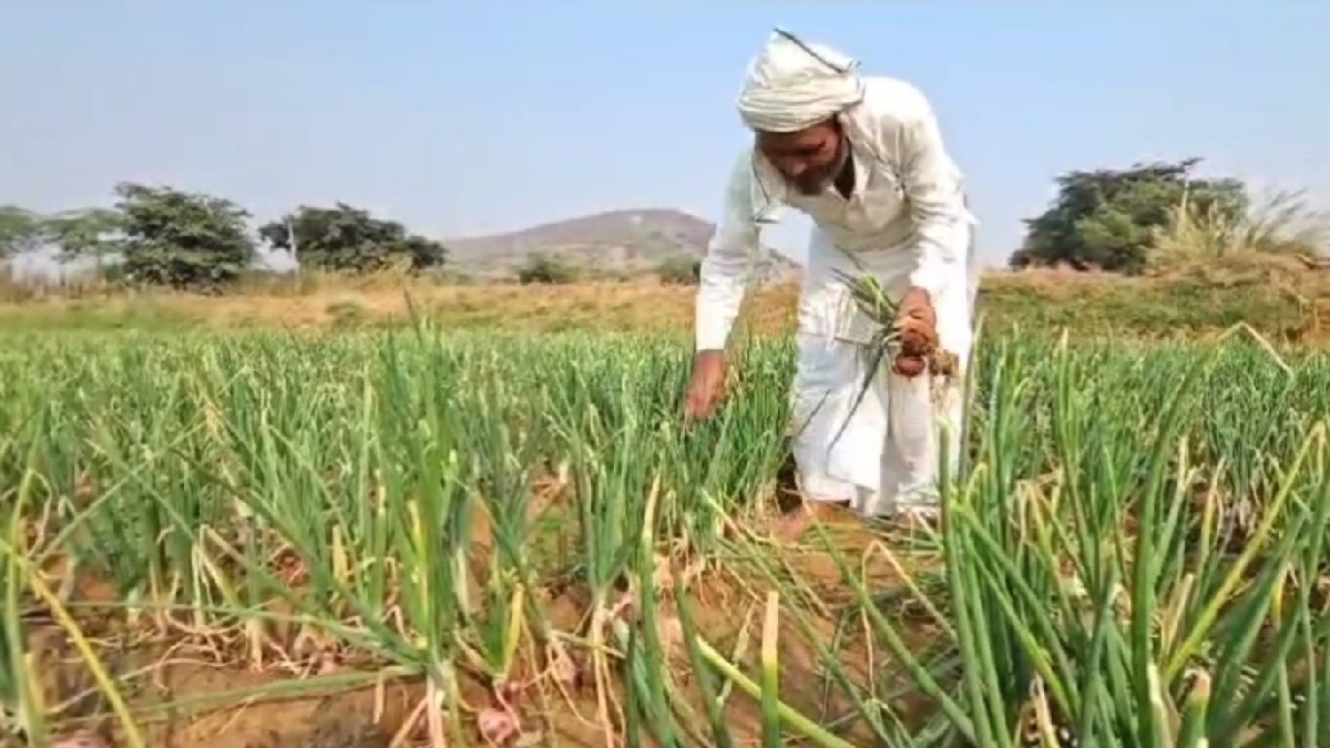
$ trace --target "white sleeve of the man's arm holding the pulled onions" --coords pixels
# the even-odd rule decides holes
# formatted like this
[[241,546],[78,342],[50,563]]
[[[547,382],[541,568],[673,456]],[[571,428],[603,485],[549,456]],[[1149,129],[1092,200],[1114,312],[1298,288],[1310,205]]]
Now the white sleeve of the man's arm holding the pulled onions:
[[932,301],[950,285],[966,282],[972,218],[932,106],[914,89],[903,98],[896,149],[918,250],[910,285]]

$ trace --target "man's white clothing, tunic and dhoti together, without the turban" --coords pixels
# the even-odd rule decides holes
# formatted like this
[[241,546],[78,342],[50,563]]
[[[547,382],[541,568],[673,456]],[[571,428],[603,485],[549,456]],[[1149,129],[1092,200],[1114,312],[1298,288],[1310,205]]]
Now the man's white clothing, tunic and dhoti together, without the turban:
[[[935,504],[943,439],[950,463],[958,461],[978,290],[975,220],[960,170],[916,88],[867,77],[863,101],[841,121],[854,158],[849,200],[830,186],[819,196],[799,194],[759,154],[741,154],[702,261],[697,349],[725,347],[753,273],[761,226],[783,206],[807,213],[817,228],[798,310],[794,458],[807,498],[850,500],[882,515]],[[892,298],[911,286],[927,290],[940,346],[959,357],[962,375],[908,379],[884,366],[855,407],[874,327],[837,272],[872,273]]]

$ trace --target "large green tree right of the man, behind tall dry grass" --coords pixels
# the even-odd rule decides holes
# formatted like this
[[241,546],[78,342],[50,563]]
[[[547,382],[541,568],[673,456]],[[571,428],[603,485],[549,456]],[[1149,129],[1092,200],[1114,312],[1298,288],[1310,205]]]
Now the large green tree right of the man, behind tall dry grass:
[[1193,177],[1200,158],[1137,164],[1130,169],[1069,172],[1057,177],[1057,198],[1025,221],[1016,269],[1065,264],[1079,270],[1140,273],[1153,232],[1188,200],[1197,210],[1241,217],[1249,208],[1238,180]]

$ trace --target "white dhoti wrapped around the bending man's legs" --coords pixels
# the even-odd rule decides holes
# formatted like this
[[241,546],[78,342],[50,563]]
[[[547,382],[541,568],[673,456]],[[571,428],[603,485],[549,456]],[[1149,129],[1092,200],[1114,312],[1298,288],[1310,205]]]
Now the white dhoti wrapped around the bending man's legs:
[[[884,253],[884,260],[890,264],[892,256]],[[900,298],[903,273],[866,265]],[[805,498],[850,502],[872,516],[938,506],[939,479],[954,475],[963,449],[976,286],[971,274],[934,299],[939,346],[958,357],[956,375],[907,378],[891,371],[890,358],[870,370],[871,325],[839,278],[810,268],[799,305],[791,423]],[[940,475],[943,454],[952,475]]]

